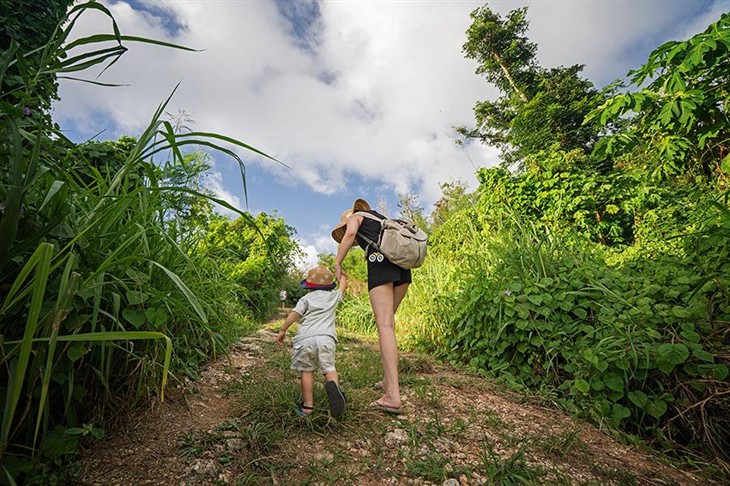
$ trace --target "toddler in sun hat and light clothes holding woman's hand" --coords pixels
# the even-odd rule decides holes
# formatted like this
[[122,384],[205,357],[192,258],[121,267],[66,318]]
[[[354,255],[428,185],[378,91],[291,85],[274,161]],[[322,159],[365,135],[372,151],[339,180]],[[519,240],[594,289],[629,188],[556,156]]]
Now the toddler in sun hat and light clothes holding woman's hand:
[[279,345],[284,344],[286,330],[301,320],[299,332],[292,342],[291,369],[302,374],[302,402],[294,409],[302,417],[314,411],[315,369],[325,377],[324,388],[332,416],[340,416],[347,404],[335,369],[335,309],[347,288],[347,277],[343,274],[339,288],[333,291],[334,279],[334,274],[324,267],[307,272],[307,278],[299,285],[308,292],[289,313],[276,338]]

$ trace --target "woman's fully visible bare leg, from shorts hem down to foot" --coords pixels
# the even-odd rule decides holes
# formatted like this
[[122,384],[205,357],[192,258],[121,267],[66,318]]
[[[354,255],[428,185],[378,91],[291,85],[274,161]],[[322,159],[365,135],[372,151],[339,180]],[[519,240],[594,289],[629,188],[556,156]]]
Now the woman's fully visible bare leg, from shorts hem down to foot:
[[[402,297],[401,297],[402,298]],[[398,345],[395,340],[395,299],[393,283],[379,285],[370,291],[370,305],[375,315],[380,341],[380,360],[383,363],[385,395],[380,403],[400,408],[398,385]]]

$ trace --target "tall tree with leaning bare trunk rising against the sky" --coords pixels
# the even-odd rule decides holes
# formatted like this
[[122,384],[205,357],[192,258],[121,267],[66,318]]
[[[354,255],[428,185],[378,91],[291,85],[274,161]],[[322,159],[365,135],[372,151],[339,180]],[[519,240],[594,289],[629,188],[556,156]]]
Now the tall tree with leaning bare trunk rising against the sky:
[[604,100],[593,83],[579,76],[583,66],[546,69],[537,64],[537,45],[526,37],[526,15],[521,8],[503,19],[489,7],[477,8],[463,47],[464,55],[479,63],[477,74],[502,96],[478,102],[476,127],[458,131],[500,147],[507,165],[555,144],[565,151],[590,146],[598,129],[583,119]]

